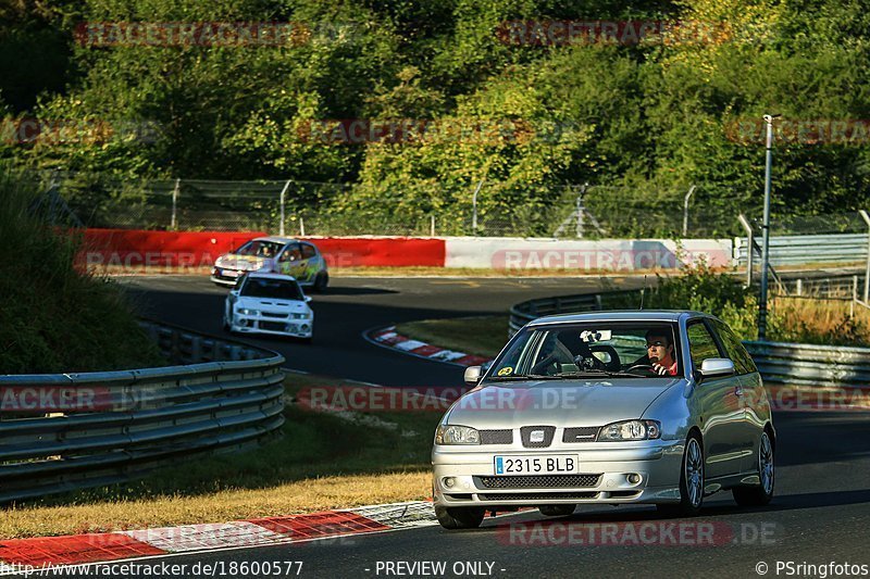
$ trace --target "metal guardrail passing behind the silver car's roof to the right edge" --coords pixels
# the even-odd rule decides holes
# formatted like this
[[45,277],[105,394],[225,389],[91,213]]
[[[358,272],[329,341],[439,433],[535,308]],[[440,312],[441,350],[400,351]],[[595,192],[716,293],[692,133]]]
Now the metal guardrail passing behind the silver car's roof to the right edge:
[[[616,293],[638,293],[637,290]],[[550,314],[601,310],[602,300],[614,292],[561,295],[529,300],[510,309],[512,336],[529,322]],[[846,348],[803,343],[744,341],[765,382],[797,388],[868,388],[870,348]]]

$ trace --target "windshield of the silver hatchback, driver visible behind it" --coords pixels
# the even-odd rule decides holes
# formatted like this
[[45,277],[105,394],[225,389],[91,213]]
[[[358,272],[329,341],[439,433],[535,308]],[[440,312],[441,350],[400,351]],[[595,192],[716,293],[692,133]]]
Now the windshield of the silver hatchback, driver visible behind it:
[[487,380],[576,376],[661,377],[681,372],[669,322],[595,322],[532,327],[495,361]]

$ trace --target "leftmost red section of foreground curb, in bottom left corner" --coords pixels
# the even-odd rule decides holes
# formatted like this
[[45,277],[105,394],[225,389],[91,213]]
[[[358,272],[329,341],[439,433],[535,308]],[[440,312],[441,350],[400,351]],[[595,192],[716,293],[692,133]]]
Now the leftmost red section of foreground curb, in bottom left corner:
[[89,563],[163,554],[162,549],[120,533],[0,541],[0,561],[20,565]]

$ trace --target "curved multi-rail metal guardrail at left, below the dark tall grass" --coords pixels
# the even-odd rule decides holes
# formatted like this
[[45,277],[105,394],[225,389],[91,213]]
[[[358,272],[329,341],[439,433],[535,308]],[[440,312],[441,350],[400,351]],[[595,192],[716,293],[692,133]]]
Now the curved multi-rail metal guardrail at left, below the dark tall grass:
[[0,502],[121,482],[279,432],[284,356],[142,326],[186,365],[0,376]]

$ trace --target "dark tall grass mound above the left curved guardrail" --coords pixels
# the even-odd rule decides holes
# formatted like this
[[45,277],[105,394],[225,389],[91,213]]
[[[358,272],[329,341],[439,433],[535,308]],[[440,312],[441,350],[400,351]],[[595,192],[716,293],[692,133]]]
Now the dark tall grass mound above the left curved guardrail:
[[40,193],[0,165],[0,374],[160,364],[121,290],[76,270],[80,236],[39,215]]

